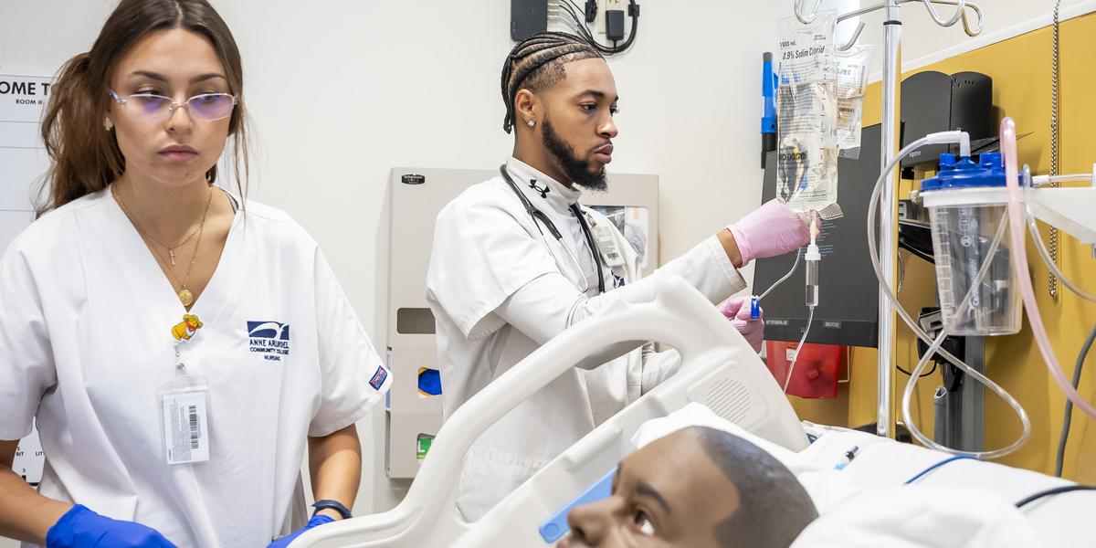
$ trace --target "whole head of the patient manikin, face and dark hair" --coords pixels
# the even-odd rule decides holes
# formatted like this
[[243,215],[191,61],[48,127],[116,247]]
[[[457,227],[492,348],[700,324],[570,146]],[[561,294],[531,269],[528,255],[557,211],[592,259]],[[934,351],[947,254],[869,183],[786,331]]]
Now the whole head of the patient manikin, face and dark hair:
[[625,458],[613,495],[571,511],[558,546],[787,548],[815,517],[779,460],[739,436],[690,426]]

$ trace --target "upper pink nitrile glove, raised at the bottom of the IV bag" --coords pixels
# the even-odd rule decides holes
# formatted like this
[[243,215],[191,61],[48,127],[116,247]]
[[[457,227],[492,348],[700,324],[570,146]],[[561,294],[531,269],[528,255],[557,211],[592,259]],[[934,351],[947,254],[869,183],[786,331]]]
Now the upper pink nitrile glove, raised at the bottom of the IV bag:
[[811,241],[809,224],[810,214],[797,214],[774,198],[727,228],[734,236],[744,265],[807,246]]

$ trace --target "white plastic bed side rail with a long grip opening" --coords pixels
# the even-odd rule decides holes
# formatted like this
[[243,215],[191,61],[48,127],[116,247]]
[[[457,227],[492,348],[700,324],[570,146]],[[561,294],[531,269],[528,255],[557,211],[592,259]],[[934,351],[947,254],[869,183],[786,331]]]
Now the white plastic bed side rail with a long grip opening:
[[[395,509],[317,527],[292,546],[443,547],[473,527],[484,538],[466,537],[459,544],[545,546],[537,534],[540,522],[633,450],[628,439],[642,422],[690,401],[708,404],[774,443],[794,450],[804,447],[807,439],[791,406],[730,322],[681,278],[651,282],[652,299],[619,299],[607,305],[538,349],[453,413],[407,496]],[[681,354],[681,369],[549,463],[479,522],[467,523],[460,517],[456,498],[461,459],[483,431],[569,368],[608,362],[646,341],[673,346]],[[514,532],[504,533],[518,526],[513,518],[500,521],[515,504],[523,506],[520,521],[527,522],[520,528],[523,538],[515,538]]]

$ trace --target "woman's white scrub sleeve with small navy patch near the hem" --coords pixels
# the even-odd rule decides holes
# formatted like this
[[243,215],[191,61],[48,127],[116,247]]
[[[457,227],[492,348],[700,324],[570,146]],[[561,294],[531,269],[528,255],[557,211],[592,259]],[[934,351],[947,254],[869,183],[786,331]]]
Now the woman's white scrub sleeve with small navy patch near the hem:
[[388,391],[392,376],[374,350],[319,248],[315,262],[322,393],[308,435],[317,437],[363,419]]

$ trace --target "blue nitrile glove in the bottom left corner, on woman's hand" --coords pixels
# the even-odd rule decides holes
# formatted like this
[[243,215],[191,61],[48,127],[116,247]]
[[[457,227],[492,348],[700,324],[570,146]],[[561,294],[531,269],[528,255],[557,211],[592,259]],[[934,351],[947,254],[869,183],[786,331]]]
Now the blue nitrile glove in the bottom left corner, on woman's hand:
[[77,504],[46,532],[46,548],[175,548],[175,545],[151,527],[111,520]]

